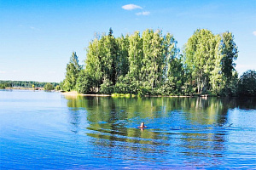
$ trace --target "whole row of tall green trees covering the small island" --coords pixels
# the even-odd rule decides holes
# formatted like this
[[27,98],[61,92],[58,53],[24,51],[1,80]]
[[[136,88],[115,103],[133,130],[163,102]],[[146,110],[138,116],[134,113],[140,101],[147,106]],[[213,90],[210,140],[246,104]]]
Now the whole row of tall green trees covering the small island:
[[82,94],[234,96],[237,56],[229,31],[214,35],[198,29],[180,53],[170,33],[148,29],[113,37],[110,29],[90,42],[84,66],[72,54],[61,88]]

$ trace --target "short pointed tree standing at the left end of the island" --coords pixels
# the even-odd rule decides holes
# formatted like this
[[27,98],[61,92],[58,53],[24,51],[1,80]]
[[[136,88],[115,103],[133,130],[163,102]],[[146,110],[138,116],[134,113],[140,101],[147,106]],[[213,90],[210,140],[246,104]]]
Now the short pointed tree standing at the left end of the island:
[[79,65],[79,58],[75,52],[70,57],[70,61],[66,67],[66,77],[63,81],[63,89],[65,91],[74,90],[76,88],[76,82],[79,77],[79,71],[81,66]]

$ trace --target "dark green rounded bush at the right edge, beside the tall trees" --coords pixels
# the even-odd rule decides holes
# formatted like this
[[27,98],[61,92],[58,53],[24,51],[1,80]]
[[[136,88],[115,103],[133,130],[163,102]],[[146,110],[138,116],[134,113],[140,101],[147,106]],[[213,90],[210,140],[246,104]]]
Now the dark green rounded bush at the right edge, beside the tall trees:
[[256,96],[256,71],[244,72],[238,82],[240,96]]

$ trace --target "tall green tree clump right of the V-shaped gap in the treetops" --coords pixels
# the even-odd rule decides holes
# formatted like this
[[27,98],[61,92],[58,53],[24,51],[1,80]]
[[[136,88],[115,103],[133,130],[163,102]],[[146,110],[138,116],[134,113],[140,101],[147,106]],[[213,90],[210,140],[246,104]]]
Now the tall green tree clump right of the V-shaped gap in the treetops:
[[232,33],[213,35],[211,31],[198,29],[186,43],[184,56],[195,92],[236,94],[238,51]]

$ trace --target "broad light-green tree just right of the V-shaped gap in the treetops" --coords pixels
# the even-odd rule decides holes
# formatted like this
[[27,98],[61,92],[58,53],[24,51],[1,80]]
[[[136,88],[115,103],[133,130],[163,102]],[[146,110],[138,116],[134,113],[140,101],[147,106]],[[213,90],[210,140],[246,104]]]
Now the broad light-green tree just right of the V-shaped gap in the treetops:
[[198,93],[205,93],[210,88],[216,43],[212,31],[198,29],[192,37],[189,37],[185,45],[185,64],[190,71],[192,81],[195,81]]

